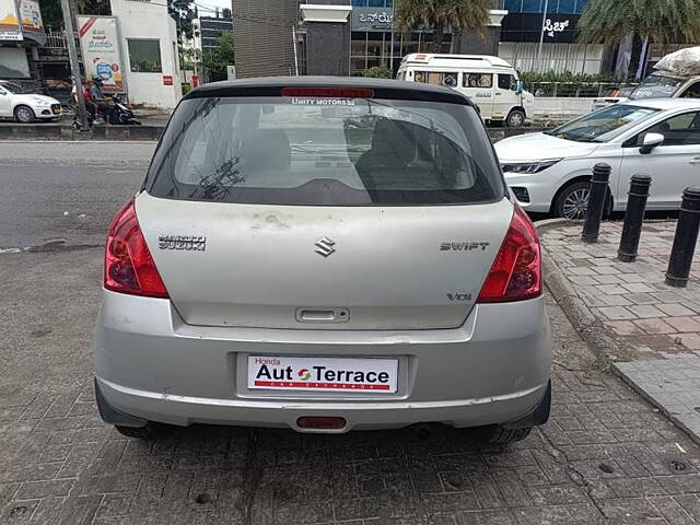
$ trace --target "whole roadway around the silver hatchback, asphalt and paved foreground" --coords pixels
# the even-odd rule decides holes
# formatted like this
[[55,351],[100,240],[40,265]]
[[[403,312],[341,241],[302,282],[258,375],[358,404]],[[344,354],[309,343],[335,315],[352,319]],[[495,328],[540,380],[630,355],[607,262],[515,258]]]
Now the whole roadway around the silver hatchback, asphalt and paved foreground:
[[0,142],[0,246],[72,247],[0,253],[0,524],[700,523],[700,450],[550,296],[552,417],[510,448],[443,427],[117,434],[92,388],[101,245],[152,148]]

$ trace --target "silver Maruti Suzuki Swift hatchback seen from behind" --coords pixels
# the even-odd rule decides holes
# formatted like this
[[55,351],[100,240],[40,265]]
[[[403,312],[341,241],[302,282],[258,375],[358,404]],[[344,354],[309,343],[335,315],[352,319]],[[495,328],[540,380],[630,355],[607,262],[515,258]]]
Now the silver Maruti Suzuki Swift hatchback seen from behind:
[[540,246],[477,110],[398,81],[214,83],[114,219],[102,418],[341,433],[547,421]]

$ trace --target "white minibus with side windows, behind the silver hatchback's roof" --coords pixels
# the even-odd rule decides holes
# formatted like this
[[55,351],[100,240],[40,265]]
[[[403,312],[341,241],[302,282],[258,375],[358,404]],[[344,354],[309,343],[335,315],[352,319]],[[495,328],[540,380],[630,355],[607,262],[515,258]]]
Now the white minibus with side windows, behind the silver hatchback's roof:
[[453,88],[479,106],[487,122],[523,126],[535,107],[535,97],[523,89],[517,71],[499,57],[408,55],[401,60],[397,78]]

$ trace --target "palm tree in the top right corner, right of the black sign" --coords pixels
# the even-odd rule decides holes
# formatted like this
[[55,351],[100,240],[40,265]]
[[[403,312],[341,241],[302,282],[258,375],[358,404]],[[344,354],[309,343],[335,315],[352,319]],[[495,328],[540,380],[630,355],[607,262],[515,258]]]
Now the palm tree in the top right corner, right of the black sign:
[[617,45],[629,38],[632,56],[628,75],[634,77],[645,38],[660,45],[700,40],[700,2],[590,0],[579,21],[579,42]]

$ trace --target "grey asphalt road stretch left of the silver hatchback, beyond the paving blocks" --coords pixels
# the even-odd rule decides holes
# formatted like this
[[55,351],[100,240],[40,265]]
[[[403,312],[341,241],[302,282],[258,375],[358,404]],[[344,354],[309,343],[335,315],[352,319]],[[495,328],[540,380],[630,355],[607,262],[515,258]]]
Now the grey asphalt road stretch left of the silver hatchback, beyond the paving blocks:
[[100,245],[153,142],[0,142],[0,250]]

